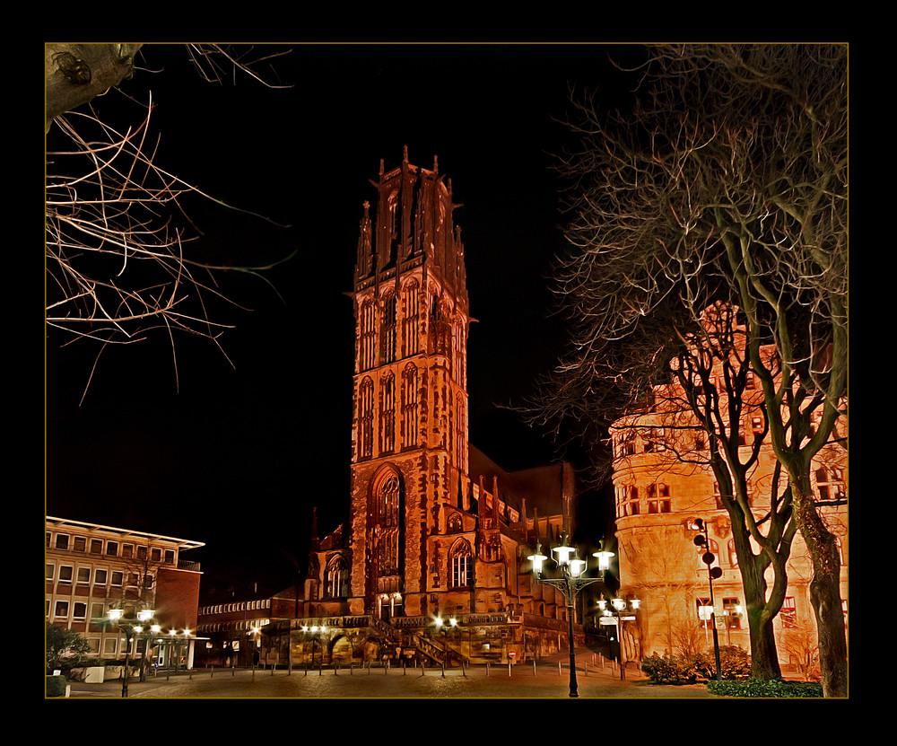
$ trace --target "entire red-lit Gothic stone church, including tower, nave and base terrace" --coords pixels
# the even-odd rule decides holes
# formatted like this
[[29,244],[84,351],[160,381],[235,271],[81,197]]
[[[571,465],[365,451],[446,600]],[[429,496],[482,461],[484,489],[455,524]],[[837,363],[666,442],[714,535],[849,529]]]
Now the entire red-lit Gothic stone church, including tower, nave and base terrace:
[[313,538],[300,614],[266,629],[266,660],[507,663],[565,649],[564,600],[526,557],[571,528],[573,471],[507,472],[468,443],[471,317],[451,180],[405,149],[372,183],[353,283],[349,519]]

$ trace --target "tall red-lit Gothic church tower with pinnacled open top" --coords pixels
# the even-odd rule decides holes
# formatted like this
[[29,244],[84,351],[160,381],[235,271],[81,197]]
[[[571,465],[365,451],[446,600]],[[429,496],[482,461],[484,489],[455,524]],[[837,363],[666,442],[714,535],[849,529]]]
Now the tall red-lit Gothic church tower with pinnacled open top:
[[363,205],[356,324],[349,532],[353,614],[432,613],[433,537],[470,494],[464,247],[438,162],[385,171]]

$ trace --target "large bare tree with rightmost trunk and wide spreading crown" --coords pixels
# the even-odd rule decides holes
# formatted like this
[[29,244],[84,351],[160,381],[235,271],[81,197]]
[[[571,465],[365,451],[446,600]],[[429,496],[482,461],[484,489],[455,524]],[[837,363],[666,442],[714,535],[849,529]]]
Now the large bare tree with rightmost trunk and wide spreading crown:
[[811,470],[847,416],[847,49],[658,46],[638,72],[631,110],[586,95],[570,122],[557,278],[576,323],[544,420],[611,421],[668,377],[703,309],[737,307],[813,558],[823,691],[846,696],[840,561]]

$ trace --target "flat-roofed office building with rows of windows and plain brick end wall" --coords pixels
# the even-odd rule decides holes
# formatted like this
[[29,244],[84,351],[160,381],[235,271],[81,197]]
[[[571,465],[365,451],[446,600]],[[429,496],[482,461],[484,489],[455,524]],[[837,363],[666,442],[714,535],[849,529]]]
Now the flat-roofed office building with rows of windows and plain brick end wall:
[[[152,609],[161,627],[156,662],[192,665],[201,572],[180,555],[202,542],[50,516],[46,532],[49,623],[80,633],[93,655],[120,659],[125,637],[109,624],[109,610],[123,609],[134,622],[137,611]],[[144,645],[141,639],[127,652],[136,657]]]

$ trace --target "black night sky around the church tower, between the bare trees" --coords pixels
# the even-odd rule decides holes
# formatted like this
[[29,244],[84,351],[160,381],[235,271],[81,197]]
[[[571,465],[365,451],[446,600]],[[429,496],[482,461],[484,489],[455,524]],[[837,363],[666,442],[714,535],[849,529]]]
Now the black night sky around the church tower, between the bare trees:
[[[90,373],[86,346],[47,344],[48,514],[205,541],[191,551],[210,577],[289,583],[304,564],[310,505],[323,533],[348,498],[351,290],[361,204],[379,159],[409,160],[452,180],[466,248],[471,313],[471,441],[507,469],[552,447],[495,403],[525,396],[559,350],[545,276],[562,250],[549,152],[568,83],[605,85],[608,48],[574,45],[296,45],[274,66],[289,89],[238,76],[205,83],[182,47],[144,48],[123,86],[152,90],[158,160],[223,201],[289,224],[196,203],[202,250],[267,262],[297,251],[266,285],[228,275],[252,310],[222,353],[202,338],[158,337],[108,350]],[[615,47],[618,53],[626,49]],[[150,72],[159,71],[159,72]],[[267,76],[272,79],[271,75]],[[613,89],[599,87],[599,92]],[[137,108],[118,92],[100,112]],[[52,149],[52,139],[48,146]],[[246,259],[251,258],[251,259]],[[94,351],[95,353],[95,351]],[[187,556],[185,556],[187,558]],[[226,569],[225,569],[226,568]]]

